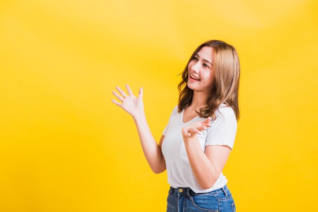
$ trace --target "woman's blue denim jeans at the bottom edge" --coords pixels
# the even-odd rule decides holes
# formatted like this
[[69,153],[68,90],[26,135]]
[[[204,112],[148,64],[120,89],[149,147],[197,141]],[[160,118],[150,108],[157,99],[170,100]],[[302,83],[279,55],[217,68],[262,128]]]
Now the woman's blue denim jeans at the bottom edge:
[[235,203],[227,185],[206,193],[195,193],[189,187],[170,186],[167,212],[235,212]]

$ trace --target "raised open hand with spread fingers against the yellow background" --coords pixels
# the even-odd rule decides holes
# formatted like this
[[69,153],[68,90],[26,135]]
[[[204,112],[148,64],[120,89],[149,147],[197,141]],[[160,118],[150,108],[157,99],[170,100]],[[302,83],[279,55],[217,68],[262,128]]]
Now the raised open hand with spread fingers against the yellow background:
[[144,103],[142,100],[143,96],[143,88],[141,87],[139,89],[139,95],[136,98],[133,91],[130,89],[129,85],[125,85],[128,91],[129,95],[126,95],[126,93],[121,90],[118,86],[116,86],[116,89],[119,91],[121,96],[117,94],[115,91],[112,93],[122,102],[119,103],[114,99],[111,99],[112,102],[117,104],[120,108],[122,108],[125,112],[129,113],[132,117],[137,117],[139,115],[144,114]]

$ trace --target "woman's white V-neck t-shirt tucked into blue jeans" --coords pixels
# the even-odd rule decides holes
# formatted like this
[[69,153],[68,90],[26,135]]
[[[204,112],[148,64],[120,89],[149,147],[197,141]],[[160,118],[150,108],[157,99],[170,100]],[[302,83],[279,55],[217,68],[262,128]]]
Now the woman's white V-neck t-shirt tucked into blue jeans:
[[[225,186],[228,180],[222,172],[211,188],[202,189],[198,184],[189,164],[181,128],[192,122],[203,121],[205,118],[197,116],[183,123],[183,111],[178,113],[178,105],[176,105],[163,131],[165,138],[162,144],[162,151],[166,160],[168,183],[173,188],[189,187],[196,193],[210,192]],[[201,135],[198,134],[198,140],[204,152],[205,146],[208,145],[227,145],[231,148],[231,151],[233,150],[237,129],[235,113],[231,107],[227,107],[224,103],[219,105],[219,111],[220,113],[218,111],[215,112],[216,119],[211,121],[211,127],[202,130]]]

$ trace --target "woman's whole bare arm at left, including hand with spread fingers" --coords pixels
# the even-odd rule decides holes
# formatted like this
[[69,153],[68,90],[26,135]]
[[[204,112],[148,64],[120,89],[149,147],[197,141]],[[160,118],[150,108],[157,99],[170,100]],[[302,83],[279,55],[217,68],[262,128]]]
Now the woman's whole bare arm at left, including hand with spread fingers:
[[139,95],[136,98],[129,85],[126,84],[126,88],[129,95],[126,95],[124,91],[116,86],[116,89],[119,91],[121,96],[116,92],[113,92],[113,94],[120,101],[122,101],[122,103],[119,103],[114,99],[112,99],[112,101],[133,117],[138,130],[142,151],[146,157],[146,160],[154,173],[161,173],[166,170],[166,161],[161,150],[165,136],[161,136],[158,145],[151,134],[144,113],[144,105],[142,100],[143,89],[141,88],[139,90]]

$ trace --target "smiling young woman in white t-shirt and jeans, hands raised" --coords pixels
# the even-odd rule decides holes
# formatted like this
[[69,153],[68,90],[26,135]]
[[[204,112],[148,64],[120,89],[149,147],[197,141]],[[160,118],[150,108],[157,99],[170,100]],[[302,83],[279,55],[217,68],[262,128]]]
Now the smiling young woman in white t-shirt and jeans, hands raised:
[[[159,145],[144,114],[143,88],[136,98],[119,87],[122,103],[137,126],[144,155],[154,173],[167,169],[167,212],[235,211],[228,180],[222,174],[233,149],[239,120],[240,63],[235,48],[210,40],[190,57],[178,85],[175,105]],[[180,75],[181,75],[180,74]]]

